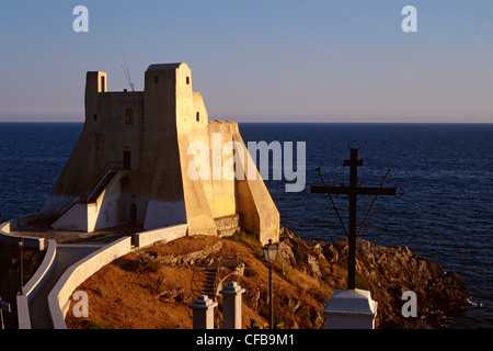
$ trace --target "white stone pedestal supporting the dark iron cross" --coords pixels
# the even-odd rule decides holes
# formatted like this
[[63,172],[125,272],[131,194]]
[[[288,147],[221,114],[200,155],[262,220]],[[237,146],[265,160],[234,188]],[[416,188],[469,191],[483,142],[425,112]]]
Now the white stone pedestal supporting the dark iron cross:
[[375,329],[377,302],[366,290],[336,290],[325,303],[325,329]]

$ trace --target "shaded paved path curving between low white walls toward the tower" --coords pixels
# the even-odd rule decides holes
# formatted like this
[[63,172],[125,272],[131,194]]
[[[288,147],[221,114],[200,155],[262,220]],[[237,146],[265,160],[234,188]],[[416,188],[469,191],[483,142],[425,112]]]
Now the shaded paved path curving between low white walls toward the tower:
[[57,254],[51,275],[30,303],[31,327],[33,329],[51,329],[51,317],[48,309],[48,294],[64,272],[77,261],[99,250],[108,242],[64,242],[57,244]]

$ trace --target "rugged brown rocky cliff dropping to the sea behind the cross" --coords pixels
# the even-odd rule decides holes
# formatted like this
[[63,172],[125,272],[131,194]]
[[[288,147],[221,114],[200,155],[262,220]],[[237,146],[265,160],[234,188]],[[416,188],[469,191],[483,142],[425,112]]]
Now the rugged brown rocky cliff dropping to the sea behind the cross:
[[[282,246],[295,248],[300,239],[283,228]],[[298,244],[297,244],[298,242]],[[334,281],[324,275],[323,261],[346,269],[347,240],[332,244],[310,241],[312,252],[307,252],[309,272],[334,288],[343,288],[346,279]],[[322,263],[322,264],[321,264]],[[468,305],[467,290],[461,278],[423,257],[413,254],[408,247],[381,247],[358,239],[356,245],[356,287],[371,292],[378,302],[377,328],[433,328],[443,322],[445,315],[452,309]],[[402,293],[412,291],[417,297],[417,317],[402,316],[406,299]],[[440,313],[438,313],[440,312]]]

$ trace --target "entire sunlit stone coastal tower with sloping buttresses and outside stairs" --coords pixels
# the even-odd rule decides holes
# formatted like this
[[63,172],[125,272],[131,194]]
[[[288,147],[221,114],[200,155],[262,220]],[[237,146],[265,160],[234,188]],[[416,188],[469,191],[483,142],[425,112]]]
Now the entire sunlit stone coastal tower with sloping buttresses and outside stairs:
[[[208,121],[186,64],[150,65],[144,91],[106,87],[105,72],[87,73],[82,134],[42,211],[54,228],[91,233],[128,223],[145,229],[186,223],[190,235],[227,235],[241,224],[263,244],[278,240],[279,214],[259,173],[214,173],[214,147],[237,143],[245,150],[238,160],[250,156],[237,123]],[[193,143],[209,147],[209,177],[188,176],[197,156]],[[221,165],[232,155],[221,151]],[[234,167],[246,174],[243,162]]]

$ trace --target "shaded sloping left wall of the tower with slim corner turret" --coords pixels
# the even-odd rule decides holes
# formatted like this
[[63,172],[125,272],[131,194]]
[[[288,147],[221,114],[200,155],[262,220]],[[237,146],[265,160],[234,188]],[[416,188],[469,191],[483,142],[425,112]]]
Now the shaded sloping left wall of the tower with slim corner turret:
[[[108,161],[123,160],[124,150],[131,152],[131,163],[139,168],[144,92],[101,92],[101,87],[90,81],[96,79],[92,76],[101,78],[105,73],[88,72],[85,123],[43,207],[45,215],[60,208],[71,197],[82,195]],[[133,123],[126,123],[127,109],[131,110]],[[141,189],[130,191],[146,192]]]

